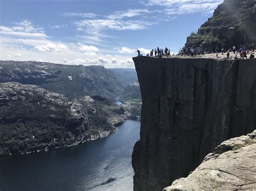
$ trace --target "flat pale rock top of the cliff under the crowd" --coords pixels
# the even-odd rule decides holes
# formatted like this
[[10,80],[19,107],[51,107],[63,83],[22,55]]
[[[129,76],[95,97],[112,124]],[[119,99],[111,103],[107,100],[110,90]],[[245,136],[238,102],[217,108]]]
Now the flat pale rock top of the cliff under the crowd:
[[[197,56],[197,57],[192,57],[192,56],[181,56],[181,55],[174,55],[174,56],[163,56],[162,58],[180,58],[180,59],[216,59],[216,60],[234,60],[234,53],[230,52],[230,59],[225,59],[227,57],[226,53],[224,53],[224,55],[222,55],[221,53],[218,53],[218,57],[216,58],[216,54],[212,53],[212,54],[204,54],[201,56]],[[138,56],[137,56],[138,57]],[[150,57],[150,58],[158,58],[156,56],[142,56],[142,57]],[[250,54],[247,54],[248,59],[250,58]],[[136,58],[136,57],[134,57]],[[238,58],[240,58],[240,55],[238,55]],[[238,59],[240,60],[240,59]],[[246,60],[246,59],[245,59]]]

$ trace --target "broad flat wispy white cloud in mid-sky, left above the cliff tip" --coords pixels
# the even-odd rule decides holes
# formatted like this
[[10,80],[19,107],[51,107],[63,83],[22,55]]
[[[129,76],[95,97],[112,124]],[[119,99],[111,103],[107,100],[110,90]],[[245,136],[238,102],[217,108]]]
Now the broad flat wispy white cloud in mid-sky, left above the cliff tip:
[[115,20],[115,19],[92,19],[79,20],[75,22],[77,30],[79,31],[102,31],[102,30],[116,30],[116,31],[136,31],[146,29],[146,27],[153,25],[154,22],[141,20]]

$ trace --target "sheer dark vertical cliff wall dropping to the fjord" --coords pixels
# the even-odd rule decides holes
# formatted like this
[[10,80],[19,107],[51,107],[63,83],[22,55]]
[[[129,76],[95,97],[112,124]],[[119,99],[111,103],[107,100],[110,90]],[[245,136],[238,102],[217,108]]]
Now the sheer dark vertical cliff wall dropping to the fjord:
[[256,129],[256,60],[133,58],[143,107],[134,190],[161,190]]

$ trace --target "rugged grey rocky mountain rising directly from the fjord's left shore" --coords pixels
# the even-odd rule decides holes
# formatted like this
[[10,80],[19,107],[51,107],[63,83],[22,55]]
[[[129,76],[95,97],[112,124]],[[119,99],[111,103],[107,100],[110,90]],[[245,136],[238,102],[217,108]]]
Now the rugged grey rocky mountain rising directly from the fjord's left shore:
[[85,96],[71,100],[17,82],[0,83],[0,108],[0,156],[106,137],[127,119],[125,110],[106,98]]

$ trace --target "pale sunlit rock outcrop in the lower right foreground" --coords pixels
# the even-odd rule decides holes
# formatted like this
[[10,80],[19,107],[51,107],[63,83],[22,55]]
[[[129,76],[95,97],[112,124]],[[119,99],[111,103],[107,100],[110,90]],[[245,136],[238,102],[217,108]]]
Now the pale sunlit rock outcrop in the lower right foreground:
[[256,188],[256,130],[221,143],[187,178],[170,190],[253,190]]

